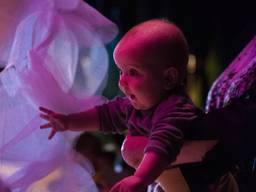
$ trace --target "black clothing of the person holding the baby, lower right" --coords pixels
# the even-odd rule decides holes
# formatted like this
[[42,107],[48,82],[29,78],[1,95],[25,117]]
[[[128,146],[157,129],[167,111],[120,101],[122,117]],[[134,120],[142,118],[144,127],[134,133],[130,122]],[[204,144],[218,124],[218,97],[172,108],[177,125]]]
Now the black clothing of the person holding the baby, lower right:
[[198,192],[203,187],[207,189],[201,190],[204,192],[238,191],[228,171],[237,169],[240,162],[256,156],[255,118],[256,101],[253,98],[234,99],[224,108],[212,110],[198,118],[194,137],[217,138],[219,143],[206,153],[201,163],[182,167],[192,191]]

